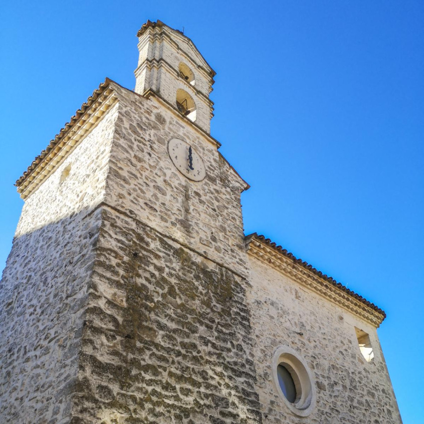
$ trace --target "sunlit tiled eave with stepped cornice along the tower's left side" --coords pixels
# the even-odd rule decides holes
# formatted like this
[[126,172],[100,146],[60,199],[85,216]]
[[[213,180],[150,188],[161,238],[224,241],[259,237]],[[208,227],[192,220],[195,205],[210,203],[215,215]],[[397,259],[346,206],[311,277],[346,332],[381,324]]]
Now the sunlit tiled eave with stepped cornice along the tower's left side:
[[75,149],[100,121],[101,117],[117,101],[113,89],[109,86],[111,80],[106,78],[99,88],[77,110],[70,121],[50,141],[49,145],[38,155],[16,181],[15,186],[20,197],[25,200],[53,170]]

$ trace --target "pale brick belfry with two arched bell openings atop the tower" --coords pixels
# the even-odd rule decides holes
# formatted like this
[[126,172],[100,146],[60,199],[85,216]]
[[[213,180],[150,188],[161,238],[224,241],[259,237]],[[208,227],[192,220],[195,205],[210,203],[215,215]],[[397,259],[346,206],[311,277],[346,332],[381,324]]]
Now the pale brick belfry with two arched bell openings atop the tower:
[[209,94],[215,72],[193,41],[160,20],[147,21],[137,36],[136,93],[154,92],[210,133],[213,102]]

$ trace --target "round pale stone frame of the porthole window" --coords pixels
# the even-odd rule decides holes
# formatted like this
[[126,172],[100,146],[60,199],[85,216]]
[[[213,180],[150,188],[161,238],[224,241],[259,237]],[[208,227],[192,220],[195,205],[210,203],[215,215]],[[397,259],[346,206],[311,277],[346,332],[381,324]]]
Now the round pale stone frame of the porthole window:
[[[278,382],[277,366],[282,364],[291,374],[296,387],[296,400],[290,403],[284,396]],[[307,417],[316,405],[316,388],[312,373],[306,361],[294,349],[279,346],[272,357],[272,377],[279,397],[286,407],[299,417]]]

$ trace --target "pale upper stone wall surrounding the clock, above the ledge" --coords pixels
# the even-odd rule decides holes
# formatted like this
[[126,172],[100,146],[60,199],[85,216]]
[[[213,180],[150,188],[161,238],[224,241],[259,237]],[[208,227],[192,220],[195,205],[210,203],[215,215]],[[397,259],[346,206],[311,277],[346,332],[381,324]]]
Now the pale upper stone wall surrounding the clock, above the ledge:
[[[154,97],[115,90],[120,106],[105,202],[245,273],[242,180],[186,119]],[[173,138],[202,156],[205,180],[190,181],[174,167],[168,154]]]

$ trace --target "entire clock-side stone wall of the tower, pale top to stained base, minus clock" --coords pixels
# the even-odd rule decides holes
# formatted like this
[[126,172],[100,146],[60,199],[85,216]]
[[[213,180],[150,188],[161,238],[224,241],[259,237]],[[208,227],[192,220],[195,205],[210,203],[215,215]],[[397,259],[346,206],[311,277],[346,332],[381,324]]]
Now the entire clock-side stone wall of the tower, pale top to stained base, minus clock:
[[[244,183],[178,113],[114,89],[119,116],[74,422],[259,423]],[[202,182],[174,167],[175,137],[202,156]]]

